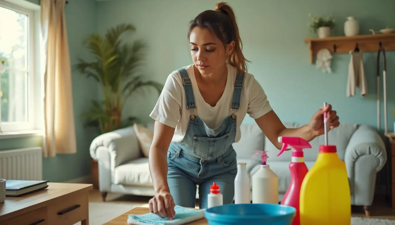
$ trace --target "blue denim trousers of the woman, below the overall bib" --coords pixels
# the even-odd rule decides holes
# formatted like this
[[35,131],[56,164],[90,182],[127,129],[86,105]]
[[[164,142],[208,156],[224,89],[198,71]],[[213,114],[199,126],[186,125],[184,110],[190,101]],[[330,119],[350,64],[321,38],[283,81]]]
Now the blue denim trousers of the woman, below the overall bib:
[[176,205],[194,208],[197,184],[199,208],[207,208],[207,195],[213,182],[220,186],[224,204],[233,202],[237,174],[236,152],[233,148],[223,156],[206,161],[190,156],[173,145],[167,152],[167,164],[167,183]]

